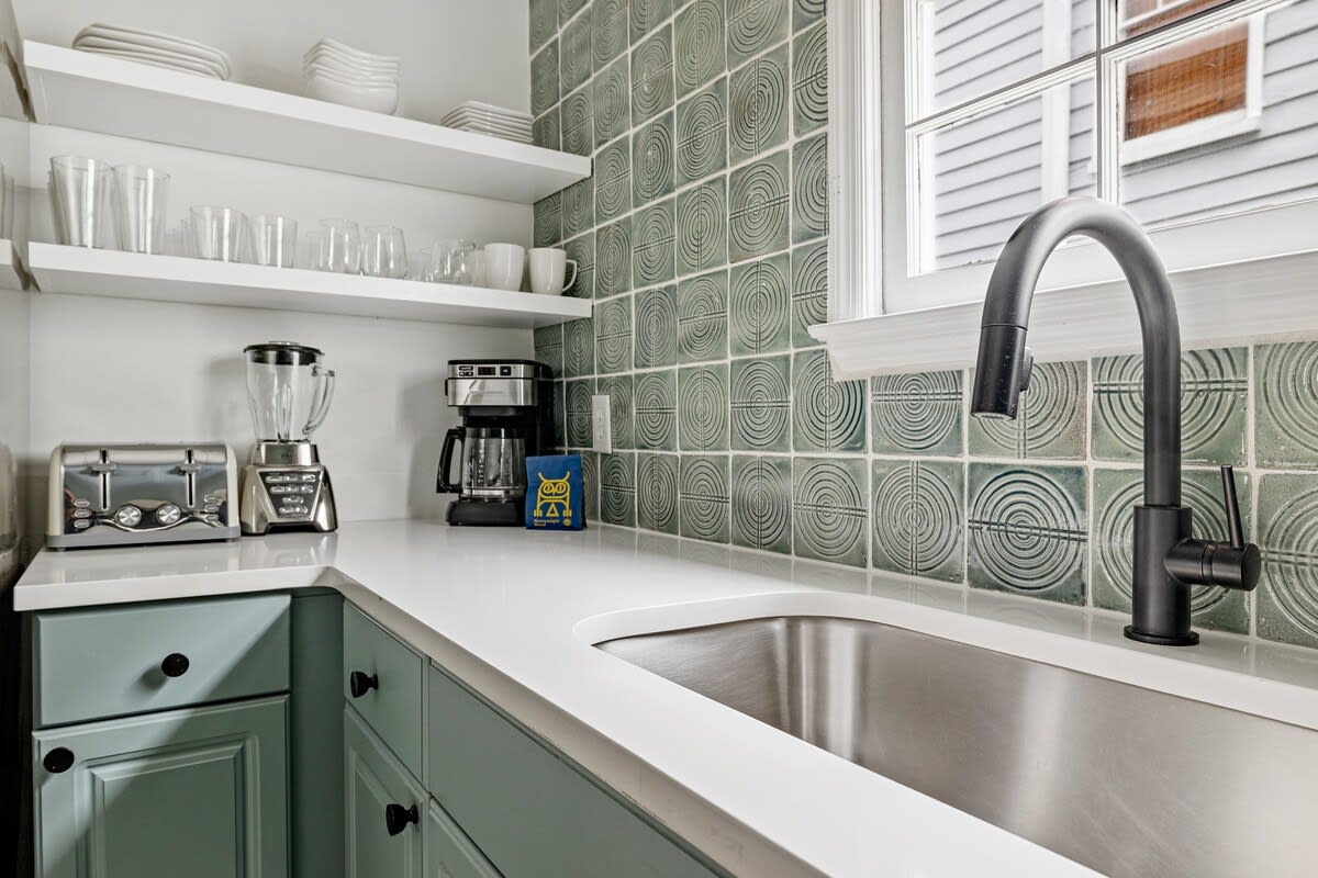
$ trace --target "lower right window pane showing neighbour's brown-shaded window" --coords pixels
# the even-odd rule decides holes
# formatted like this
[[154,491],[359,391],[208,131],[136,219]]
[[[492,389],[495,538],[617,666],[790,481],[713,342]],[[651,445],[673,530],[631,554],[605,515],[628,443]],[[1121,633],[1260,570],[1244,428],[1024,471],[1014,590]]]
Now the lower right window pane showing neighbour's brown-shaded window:
[[1132,58],[1122,204],[1164,225],[1318,197],[1318,0]]

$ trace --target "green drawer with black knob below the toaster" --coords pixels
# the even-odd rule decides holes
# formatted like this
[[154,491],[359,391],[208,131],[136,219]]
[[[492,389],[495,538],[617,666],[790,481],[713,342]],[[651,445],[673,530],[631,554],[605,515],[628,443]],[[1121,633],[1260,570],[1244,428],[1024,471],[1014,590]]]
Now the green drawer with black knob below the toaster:
[[42,612],[33,650],[38,727],[283,692],[289,596]]

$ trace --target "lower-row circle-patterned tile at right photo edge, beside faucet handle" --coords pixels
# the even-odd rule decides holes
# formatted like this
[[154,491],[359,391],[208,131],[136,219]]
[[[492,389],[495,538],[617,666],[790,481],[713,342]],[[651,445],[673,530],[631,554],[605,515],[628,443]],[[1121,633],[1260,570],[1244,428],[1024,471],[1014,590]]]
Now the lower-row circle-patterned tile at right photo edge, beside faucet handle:
[[1318,646],[1318,474],[1259,479],[1260,637]]

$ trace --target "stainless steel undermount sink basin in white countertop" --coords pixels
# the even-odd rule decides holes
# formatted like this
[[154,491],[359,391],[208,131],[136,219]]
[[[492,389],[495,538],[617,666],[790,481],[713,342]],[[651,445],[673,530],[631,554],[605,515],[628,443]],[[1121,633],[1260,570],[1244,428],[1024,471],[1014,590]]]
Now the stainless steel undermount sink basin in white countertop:
[[600,649],[1110,875],[1313,875],[1318,732],[879,623]]

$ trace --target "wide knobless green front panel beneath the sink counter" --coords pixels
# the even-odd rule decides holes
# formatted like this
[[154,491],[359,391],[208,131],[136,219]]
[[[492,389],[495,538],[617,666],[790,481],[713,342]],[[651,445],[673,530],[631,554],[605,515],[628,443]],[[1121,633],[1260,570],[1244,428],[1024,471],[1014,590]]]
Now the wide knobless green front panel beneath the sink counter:
[[712,878],[594,778],[430,669],[427,786],[507,878]]

